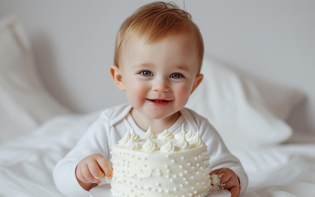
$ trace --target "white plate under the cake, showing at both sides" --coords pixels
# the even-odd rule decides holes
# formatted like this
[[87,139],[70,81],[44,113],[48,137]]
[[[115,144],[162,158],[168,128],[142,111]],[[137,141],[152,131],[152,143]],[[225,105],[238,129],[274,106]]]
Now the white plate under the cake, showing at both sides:
[[[90,190],[91,197],[113,197],[110,184],[102,184]],[[206,197],[230,197],[231,193],[226,189],[210,189]]]

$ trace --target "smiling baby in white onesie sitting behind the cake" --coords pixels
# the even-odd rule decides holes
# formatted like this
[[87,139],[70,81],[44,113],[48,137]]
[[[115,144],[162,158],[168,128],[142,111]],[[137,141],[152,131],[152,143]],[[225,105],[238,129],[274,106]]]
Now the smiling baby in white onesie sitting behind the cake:
[[117,34],[110,74],[129,103],[104,110],[57,163],[54,180],[59,190],[67,196],[89,196],[102,178],[111,178],[110,147],[129,128],[141,136],[149,126],[156,133],[166,128],[178,133],[184,124],[186,130],[199,129],[208,146],[210,177],[220,177],[218,184],[232,197],[243,193],[248,177],[240,161],[206,118],[185,108],[204,77],[203,53],[198,27],[189,13],[173,3],[147,4],[127,18]]

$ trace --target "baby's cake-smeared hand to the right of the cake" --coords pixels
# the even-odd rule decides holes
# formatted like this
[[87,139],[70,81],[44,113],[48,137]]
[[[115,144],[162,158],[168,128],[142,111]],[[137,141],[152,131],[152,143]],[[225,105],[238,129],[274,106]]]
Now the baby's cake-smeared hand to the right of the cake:
[[222,185],[224,189],[231,192],[231,197],[238,197],[240,195],[240,182],[238,175],[230,168],[223,167],[219,169],[212,170],[210,173],[216,174],[220,177],[219,185]]

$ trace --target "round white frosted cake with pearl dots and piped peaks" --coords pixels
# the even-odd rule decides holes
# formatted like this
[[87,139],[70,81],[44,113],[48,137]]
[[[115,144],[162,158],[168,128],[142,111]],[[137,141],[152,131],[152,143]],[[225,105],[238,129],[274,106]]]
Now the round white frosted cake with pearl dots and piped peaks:
[[131,129],[112,147],[115,197],[188,197],[209,192],[207,146],[190,129],[175,136],[165,130],[155,136],[149,128],[140,139]]

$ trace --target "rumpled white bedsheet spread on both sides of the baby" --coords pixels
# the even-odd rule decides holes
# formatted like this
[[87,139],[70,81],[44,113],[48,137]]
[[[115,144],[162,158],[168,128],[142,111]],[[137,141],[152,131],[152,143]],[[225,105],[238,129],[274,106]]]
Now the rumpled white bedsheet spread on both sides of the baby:
[[[0,144],[0,196],[63,196],[56,162],[74,146],[99,112],[59,116],[29,135]],[[315,144],[233,150],[249,175],[246,197],[315,195]]]

